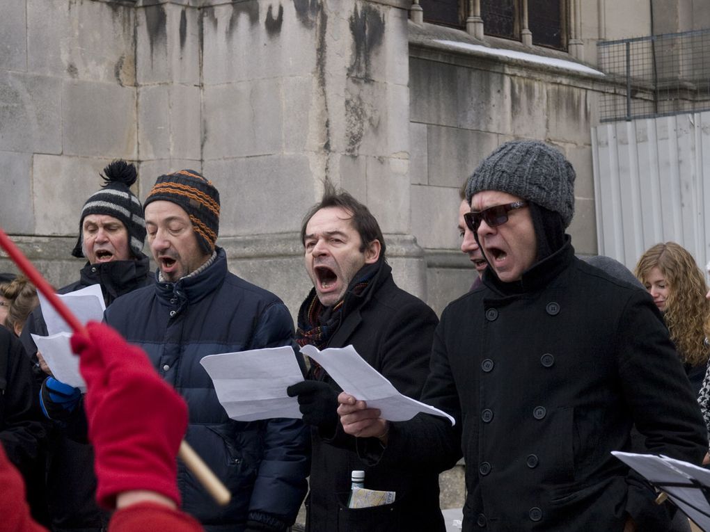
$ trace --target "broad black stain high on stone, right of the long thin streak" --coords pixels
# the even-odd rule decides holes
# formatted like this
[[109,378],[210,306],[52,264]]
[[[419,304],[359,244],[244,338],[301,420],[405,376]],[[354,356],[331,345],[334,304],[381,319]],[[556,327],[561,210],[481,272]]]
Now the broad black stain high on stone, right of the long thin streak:
[[361,79],[372,79],[370,67],[373,52],[382,43],[385,33],[385,18],[377,9],[355,6],[350,17],[350,33],[353,36],[353,54],[348,67],[348,75]]

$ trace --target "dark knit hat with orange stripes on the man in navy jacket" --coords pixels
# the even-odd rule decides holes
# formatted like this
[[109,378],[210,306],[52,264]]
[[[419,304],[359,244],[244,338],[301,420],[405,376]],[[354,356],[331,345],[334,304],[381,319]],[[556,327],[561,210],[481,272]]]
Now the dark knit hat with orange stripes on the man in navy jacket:
[[161,175],[146,198],[146,206],[159,199],[171,201],[185,209],[200,248],[211,255],[219,233],[219,192],[212,182],[195,170]]

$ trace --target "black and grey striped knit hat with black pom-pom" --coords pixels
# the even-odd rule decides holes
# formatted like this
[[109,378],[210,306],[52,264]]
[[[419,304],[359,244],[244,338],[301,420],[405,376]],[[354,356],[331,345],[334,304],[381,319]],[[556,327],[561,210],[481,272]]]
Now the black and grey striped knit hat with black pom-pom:
[[82,209],[79,219],[79,239],[72,250],[75,257],[83,257],[82,243],[84,235],[82,227],[88,214],[107,214],[118,218],[129,232],[129,245],[135,257],[140,257],[143,251],[143,241],[146,240],[146,220],[143,218],[141,201],[131,192],[131,185],[138,175],[136,167],[124,160],[116,160],[104,168],[102,189],[94,192]]

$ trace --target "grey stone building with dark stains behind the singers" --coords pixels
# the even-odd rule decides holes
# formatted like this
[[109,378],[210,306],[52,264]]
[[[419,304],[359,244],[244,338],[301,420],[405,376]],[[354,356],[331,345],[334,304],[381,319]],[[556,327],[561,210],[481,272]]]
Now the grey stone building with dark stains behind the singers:
[[710,28],[702,0],[0,4],[0,224],[50,282],[75,277],[78,213],[122,157],[141,197],[172,170],[212,179],[231,267],[293,314],[324,177],[368,204],[395,278],[440,312],[474,276],[457,191],[513,138],[572,161],[569,231],[597,253],[591,128],[619,90],[597,44]]

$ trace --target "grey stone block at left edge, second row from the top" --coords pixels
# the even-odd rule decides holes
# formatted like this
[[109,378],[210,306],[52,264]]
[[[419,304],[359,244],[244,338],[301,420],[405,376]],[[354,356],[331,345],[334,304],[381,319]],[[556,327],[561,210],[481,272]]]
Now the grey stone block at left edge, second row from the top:
[[0,72],[0,150],[62,152],[61,81]]

